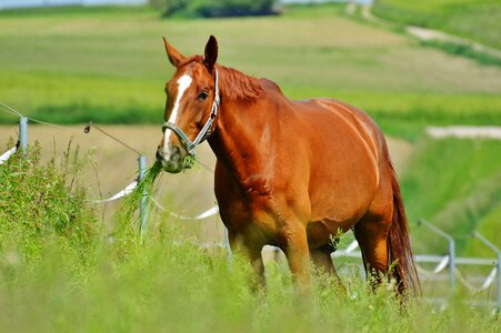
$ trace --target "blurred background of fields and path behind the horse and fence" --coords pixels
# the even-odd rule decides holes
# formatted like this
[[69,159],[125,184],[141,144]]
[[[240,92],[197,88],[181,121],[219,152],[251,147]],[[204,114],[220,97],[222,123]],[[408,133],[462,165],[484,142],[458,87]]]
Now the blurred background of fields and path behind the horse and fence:
[[[459,255],[495,255],[474,231],[501,248],[501,1],[0,0],[0,101],[64,127],[30,124],[29,142],[49,155],[71,138],[93,151],[86,176],[96,198],[137,176],[137,155],[84,124],[151,164],[173,74],[161,37],[201,54],[214,34],[219,63],[269,78],[291,99],[337,98],[375,119],[417,253],[448,251],[419,219],[454,236]],[[18,120],[0,112],[2,152]],[[162,175],[169,210],[213,206],[214,157],[207,144],[199,155],[209,170]],[[212,220],[183,225],[221,240]]]

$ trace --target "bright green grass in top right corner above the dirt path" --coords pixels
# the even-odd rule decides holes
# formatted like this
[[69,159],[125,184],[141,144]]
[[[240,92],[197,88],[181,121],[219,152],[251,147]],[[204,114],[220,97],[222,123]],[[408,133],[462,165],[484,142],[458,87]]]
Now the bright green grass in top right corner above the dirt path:
[[375,14],[501,48],[501,3],[492,0],[377,0]]

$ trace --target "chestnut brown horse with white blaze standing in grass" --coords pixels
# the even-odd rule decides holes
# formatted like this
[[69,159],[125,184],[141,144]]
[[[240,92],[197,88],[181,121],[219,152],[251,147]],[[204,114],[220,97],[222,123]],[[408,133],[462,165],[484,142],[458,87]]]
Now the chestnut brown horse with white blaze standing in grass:
[[177,71],[166,83],[157,159],[180,172],[208,140],[231,248],[249,255],[262,281],[265,244],[283,250],[300,285],[309,284],[310,259],[335,274],[331,238],[352,229],[368,274],[395,262],[399,291],[418,291],[399,183],[369,115],[332,99],[291,101],[270,80],[217,64],[212,36],[203,57],[163,41]]

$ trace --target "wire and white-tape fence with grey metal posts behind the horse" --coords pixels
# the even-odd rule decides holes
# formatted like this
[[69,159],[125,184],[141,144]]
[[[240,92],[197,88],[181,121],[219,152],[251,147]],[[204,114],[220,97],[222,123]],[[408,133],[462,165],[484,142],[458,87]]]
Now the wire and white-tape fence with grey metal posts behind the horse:
[[[53,124],[53,123],[33,119],[33,118],[28,118],[28,117],[21,114],[19,111],[10,108],[9,105],[7,105],[2,102],[0,102],[0,111],[4,111],[4,112],[13,114],[14,117],[19,117],[19,142],[13,148],[9,149],[7,152],[4,152],[2,155],[0,155],[0,164],[4,163],[18,150],[20,150],[21,153],[23,153],[26,151],[26,149],[28,147],[29,121],[48,124],[48,125],[51,125],[54,128],[64,128],[59,124]],[[110,133],[108,133],[107,131],[104,131],[103,129],[98,127],[97,124],[93,124],[92,122],[89,122],[89,124],[83,130],[86,133],[89,133],[91,128],[100,131],[104,135],[109,137],[110,139],[114,140],[117,143],[126,147],[127,149],[133,151],[138,155],[138,179],[134,180],[129,185],[127,185],[122,191],[118,192],[117,194],[114,194],[108,199],[93,200],[93,202],[94,203],[106,203],[106,202],[111,202],[111,201],[122,199],[122,198],[127,196],[128,194],[130,194],[136,189],[138,183],[144,178],[147,158],[144,155],[142,155],[139,151],[133,149],[132,147],[128,145],[120,139],[111,135]],[[210,168],[208,168],[207,165],[202,164],[202,167],[212,172],[212,170]],[[159,210],[168,212],[171,216],[173,216],[178,220],[181,220],[181,221],[206,220],[206,219],[214,216],[219,213],[219,208],[216,205],[196,216],[180,215],[174,212],[168,211],[166,208],[163,208],[158,202],[158,200],[156,198],[150,195],[144,189],[144,192],[142,193],[141,200],[139,202],[139,221],[138,221],[138,229],[140,230],[142,235],[144,235],[146,230],[147,230],[147,221],[148,221],[147,200],[148,199],[150,199]],[[443,238],[447,241],[447,244],[448,244],[448,254],[447,255],[420,255],[420,254],[414,255],[418,273],[420,274],[420,276],[427,278],[427,279],[430,279],[433,276],[438,278],[442,271],[444,271],[447,268],[449,268],[448,280],[449,280],[449,289],[450,289],[451,295],[453,295],[457,292],[457,282],[461,283],[470,292],[480,292],[480,291],[485,291],[489,287],[491,287],[494,283],[495,276],[498,276],[498,279],[497,279],[497,303],[494,304],[494,306],[495,306],[497,311],[499,312],[501,310],[501,273],[500,273],[501,272],[501,252],[500,252],[500,250],[494,244],[492,244],[489,240],[487,240],[483,235],[481,235],[478,232],[474,232],[473,236],[477,238],[478,240],[480,240],[485,246],[491,249],[493,252],[495,252],[497,258],[495,259],[458,258],[455,255],[455,242],[451,235],[447,234],[444,231],[440,230],[439,228],[437,228],[435,225],[429,223],[428,221],[425,221],[423,219],[419,220],[418,224],[425,226],[431,232],[440,235],[441,238]],[[220,245],[228,251],[228,261],[231,262],[231,260],[232,260],[231,259],[231,250],[230,250],[230,245],[229,245],[227,229],[224,229],[224,243],[220,244]],[[267,246],[267,248],[269,248],[269,249],[271,248],[271,249],[274,249],[273,251],[278,251],[278,248],[273,248],[273,246]],[[358,243],[357,243],[357,241],[353,241],[345,249],[340,249],[337,252],[334,252],[332,258],[361,259],[362,254],[360,251],[355,251],[357,248],[358,248]],[[430,271],[430,270],[423,269],[420,265],[421,263],[437,264],[437,265]],[[461,272],[458,270],[458,265],[492,266],[492,270],[489,273],[489,275],[485,279],[483,279],[480,286],[474,286],[461,274]],[[488,304],[488,305],[491,305],[491,304]]]

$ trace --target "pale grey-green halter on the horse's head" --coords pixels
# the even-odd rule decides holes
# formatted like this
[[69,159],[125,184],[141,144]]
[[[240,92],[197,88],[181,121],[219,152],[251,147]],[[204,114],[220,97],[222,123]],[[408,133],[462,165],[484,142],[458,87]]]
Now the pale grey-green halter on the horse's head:
[[210,134],[212,129],[212,123],[214,122],[216,117],[218,115],[218,107],[220,104],[220,98],[219,98],[219,87],[218,87],[218,70],[216,70],[216,88],[214,88],[214,100],[212,101],[212,110],[210,112],[209,119],[207,120],[206,124],[203,125],[200,133],[194,138],[194,141],[191,142],[191,140],[188,138],[187,134],[173,122],[166,121],[162,125],[162,132],[166,132],[167,129],[173,131],[178,137],[182,140],[184,145],[187,147],[188,154],[194,158],[196,152],[194,149],[197,145],[206,141]]

